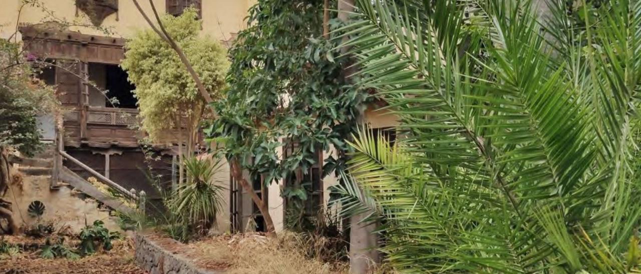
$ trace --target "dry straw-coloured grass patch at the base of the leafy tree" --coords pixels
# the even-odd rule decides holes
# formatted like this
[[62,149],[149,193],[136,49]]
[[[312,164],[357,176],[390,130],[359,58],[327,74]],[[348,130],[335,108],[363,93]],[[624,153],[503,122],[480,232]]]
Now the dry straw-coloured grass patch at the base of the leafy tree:
[[185,255],[207,269],[226,273],[327,274],[348,273],[346,262],[324,263],[307,257],[297,234],[281,232],[278,239],[261,234],[235,234],[186,245]]

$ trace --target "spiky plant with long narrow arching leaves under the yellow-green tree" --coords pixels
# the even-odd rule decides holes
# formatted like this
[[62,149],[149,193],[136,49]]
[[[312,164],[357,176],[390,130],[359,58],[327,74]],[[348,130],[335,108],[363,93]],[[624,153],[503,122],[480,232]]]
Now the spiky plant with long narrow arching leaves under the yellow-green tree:
[[202,236],[216,224],[224,188],[216,184],[215,174],[221,166],[218,158],[185,160],[187,182],[180,184],[167,202],[173,226],[170,229],[181,232],[177,238],[187,241],[192,234]]

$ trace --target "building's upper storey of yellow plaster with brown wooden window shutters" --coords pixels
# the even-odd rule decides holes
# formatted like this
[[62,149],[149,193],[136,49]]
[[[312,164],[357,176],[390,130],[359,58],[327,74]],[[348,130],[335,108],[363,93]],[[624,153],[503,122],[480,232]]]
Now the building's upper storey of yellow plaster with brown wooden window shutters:
[[[153,19],[149,0],[138,0]],[[203,34],[228,41],[243,29],[247,10],[256,0],[153,0],[159,14],[179,15],[187,6],[199,10]],[[148,28],[133,0],[3,0],[0,8],[0,38],[8,38],[24,24],[63,21],[70,31],[86,35],[127,38],[140,28]]]

